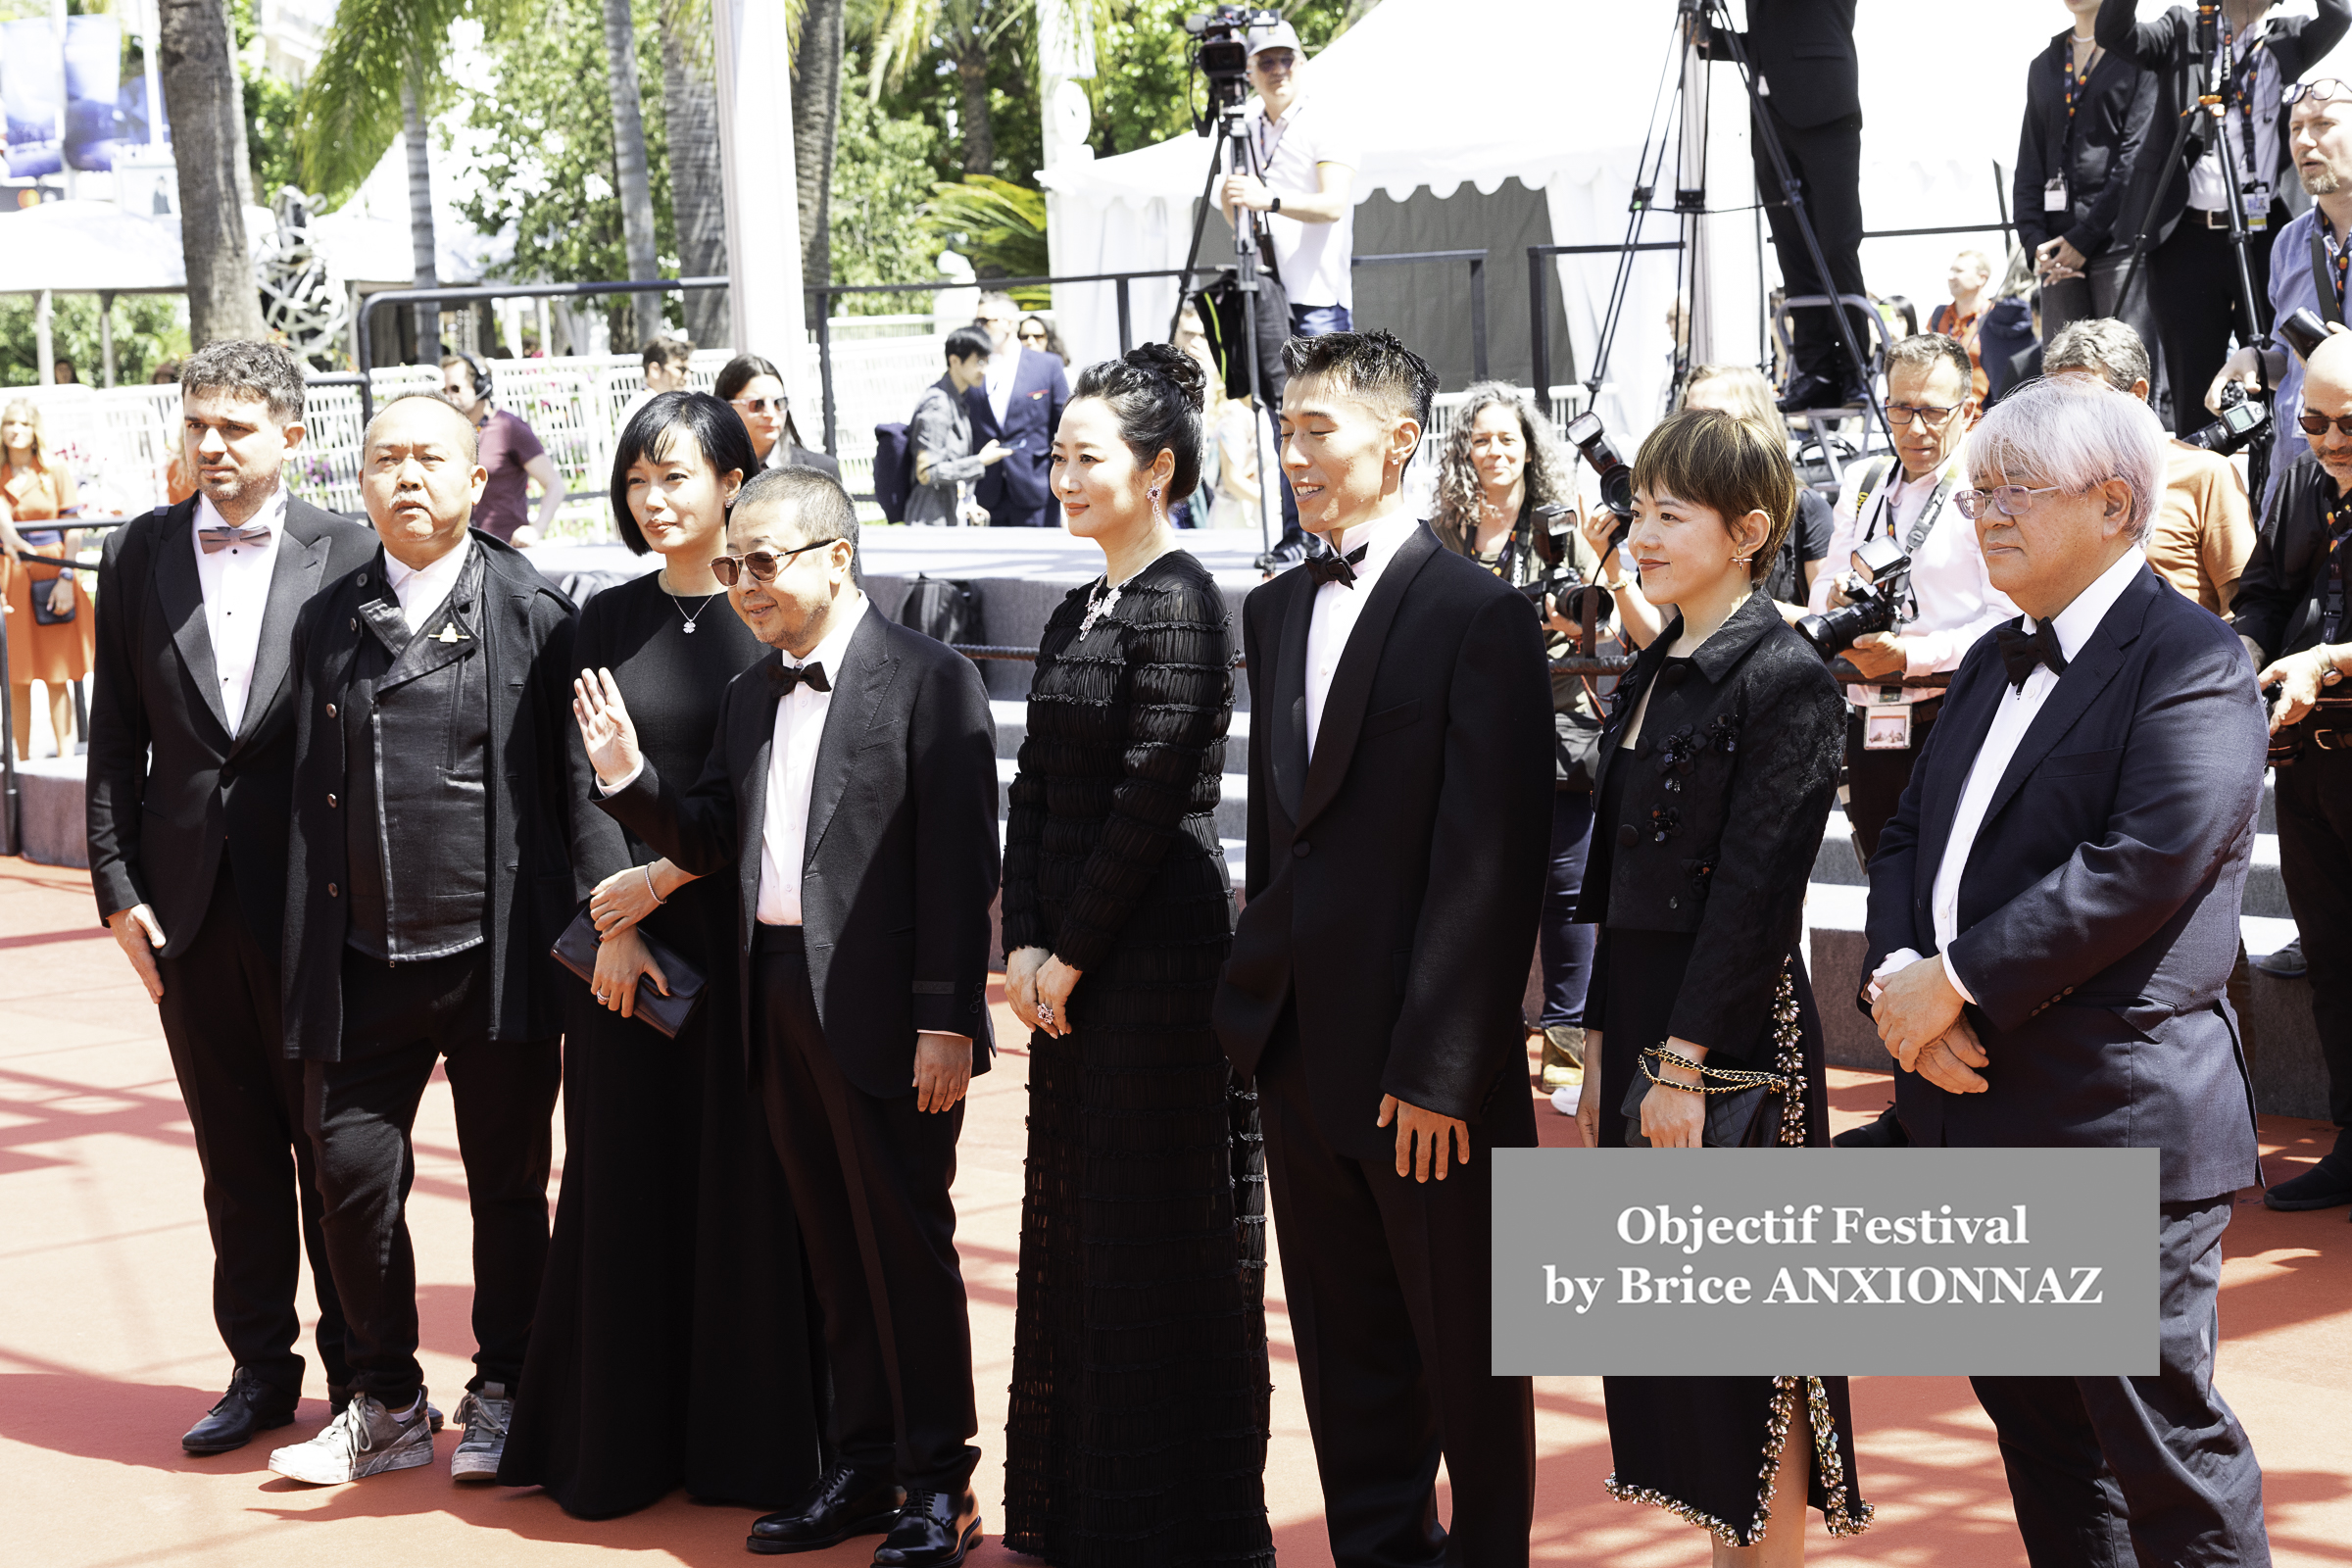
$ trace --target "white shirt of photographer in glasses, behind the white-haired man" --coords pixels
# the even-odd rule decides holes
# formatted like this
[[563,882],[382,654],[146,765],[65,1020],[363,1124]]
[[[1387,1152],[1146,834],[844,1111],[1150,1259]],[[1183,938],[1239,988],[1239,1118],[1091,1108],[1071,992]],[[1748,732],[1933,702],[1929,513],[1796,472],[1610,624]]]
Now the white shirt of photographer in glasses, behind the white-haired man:
[[[1813,578],[1811,609],[1816,616],[1830,609],[1830,585],[1853,571],[1853,550],[1867,538],[1886,538],[1889,531],[1893,531],[1896,543],[1905,543],[1912,524],[1919,522],[1919,510],[1936,496],[1936,487],[1945,477],[1952,480],[1952,489],[1969,484],[1966,473],[1959,470],[1959,454],[1917,480],[1905,477],[1898,463],[1886,480],[1872,487],[1867,503],[1860,484],[1846,484],[1846,494],[1837,498],[1830,555],[1820,576]],[[1858,517],[1856,505],[1865,505],[1867,515]],[[1959,515],[1950,496],[1936,515],[1936,527],[1919,541],[1919,555],[1912,557],[1912,597],[1919,602],[1919,618],[1896,628],[1910,642],[1905,675],[1957,670],[1978,637],[2018,614],[2018,607],[1985,574],[1976,524]],[[1931,686],[1846,686],[1846,701],[1860,705],[1924,703],[1938,696],[1943,691]]]

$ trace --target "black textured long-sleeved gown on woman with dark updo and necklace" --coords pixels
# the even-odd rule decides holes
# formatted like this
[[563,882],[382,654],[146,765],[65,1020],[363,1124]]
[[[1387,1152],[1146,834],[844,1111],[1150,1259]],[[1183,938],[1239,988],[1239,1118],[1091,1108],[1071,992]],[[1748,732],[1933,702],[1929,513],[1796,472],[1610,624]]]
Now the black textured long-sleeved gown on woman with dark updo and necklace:
[[1209,1027],[1232,893],[1232,632],[1183,550],[1047,623],[1004,945],[1082,971],[1030,1037],[1004,1544],[1063,1568],[1272,1563],[1265,1147]]

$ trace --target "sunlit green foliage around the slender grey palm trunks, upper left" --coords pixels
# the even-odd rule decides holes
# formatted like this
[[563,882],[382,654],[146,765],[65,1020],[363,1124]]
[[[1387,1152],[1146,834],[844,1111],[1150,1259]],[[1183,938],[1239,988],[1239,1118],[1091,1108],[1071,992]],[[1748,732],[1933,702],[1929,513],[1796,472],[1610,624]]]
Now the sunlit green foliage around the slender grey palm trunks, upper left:
[[[362,0],[343,0],[346,9]],[[635,0],[644,160],[654,188],[654,244],[677,270],[670,221],[670,148],[661,101],[661,5]],[[621,240],[612,101],[604,94],[604,12],[597,0],[546,0],[532,28],[494,40],[487,92],[463,99],[466,125],[487,134],[475,162],[480,195],[459,205],[477,230],[515,226],[515,277],[588,282],[628,277]],[[677,301],[668,301],[677,317]]]

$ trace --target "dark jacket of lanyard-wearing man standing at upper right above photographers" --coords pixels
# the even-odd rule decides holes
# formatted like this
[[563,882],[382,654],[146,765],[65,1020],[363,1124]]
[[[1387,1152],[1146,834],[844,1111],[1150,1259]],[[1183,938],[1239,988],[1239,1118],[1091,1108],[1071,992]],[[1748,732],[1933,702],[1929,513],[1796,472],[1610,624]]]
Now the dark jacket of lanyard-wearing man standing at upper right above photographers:
[[[2173,122],[2154,125],[2157,73],[2122,49],[2100,49],[2067,125],[2065,85],[2072,68],[2067,38],[2072,28],[2051,38],[2049,47],[2025,66],[2025,120],[2018,127],[2018,165],[2009,200],[2018,214],[2018,242],[2027,249],[2065,235],[2084,256],[2098,256],[2110,244],[2129,247],[2138,233],[2140,202],[2126,200],[2133,190],[2133,169],[2164,153]],[[2150,141],[2157,148],[2143,153]],[[2053,176],[2065,176],[2065,212],[2042,209],[2042,186]],[[2124,228],[2126,223],[2133,228]]]

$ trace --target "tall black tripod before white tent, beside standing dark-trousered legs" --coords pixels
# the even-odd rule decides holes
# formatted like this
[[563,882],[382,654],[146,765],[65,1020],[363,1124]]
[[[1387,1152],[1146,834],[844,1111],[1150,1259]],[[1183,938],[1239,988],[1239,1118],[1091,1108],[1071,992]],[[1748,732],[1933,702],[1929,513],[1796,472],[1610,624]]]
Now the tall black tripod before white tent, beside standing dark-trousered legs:
[[[1830,261],[1820,249],[1820,233],[1813,228],[1813,216],[1804,205],[1804,181],[1797,179],[1788,162],[1788,148],[1780,146],[1780,134],[1773,129],[1771,115],[1764,113],[1764,99],[1757,94],[1757,73],[1748,61],[1748,45],[1731,28],[1731,16],[1724,9],[1724,0],[1679,0],[1675,9],[1675,40],[1668,45],[1668,73],[1672,75],[1672,92],[1668,92],[1665,80],[1658,82],[1658,99],[1651,106],[1649,127],[1642,134],[1642,155],[1635,162],[1635,188],[1632,205],[1625,219],[1625,244],[1618,249],[1616,277],[1609,284],[1609,306],[1602,313],[1602,341],[1595,353],[1592,374],[1585,376],[1585,395],[1599,393],[1602,381],[1609,376],[1609,355],[1616,348],[1618,322],[1623,320],[1625,303],[1632,289],[1635,268],[1635,240],[1642,233],[1642,219],[1653,212],[1653,200],[1658,190],[1658,179],[1665,169],[1665,120],[1663,110],[1672,110],[1677,125],[1677,186],[1675,186],[1675,216],[1677,216],[1677,256],[1675,256],[1675,289],[1677,296],[1691,301],[1696,313],[1698,303],[1698,261],[1700,261],[1700,219],[1708,216],[1708,61],[1710,40],[1722,47],[1731,63],[1740,73],[1740,89],[1748,99],[1750,125],[1759,136],[1759,146],[1773,167],[1773,179],[1780,188],[1780,200],[1788,202],[1790,216],[1795,219],[1797,235],[1804,240],[1804,252],[1813,263],[1813,275],[1830,284]],[[1759,294],[1762,294],[1762,277]],[[1757,299],[1757,308],[1764,308],[1764,299]],[[1853,378],[1863,388],[1863,404],[1867,418],[1877,421],[1879,435],[1886,437],[1886,447],[1893,449],[1893,428],[1886,423],[1886,409],[1879,402],[1877,386],[1870,374],[1870,360],[1863,355],[1863,343],[1853,334],[1853,322],[1846,317],[1846,306],[1828,306],[1830,320],[1837,322],[1837,339],[1846,353],[1846,362],[1853,367]],[[1682,400],[1682,386],[1689,378],[1689,355],[1677,355],[1675,360],[1675,383],[1672,400]],[[1863,433],[1863,447],[1867,449],[1870,435]]]

